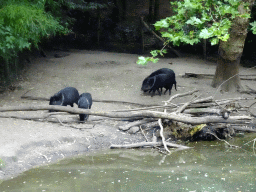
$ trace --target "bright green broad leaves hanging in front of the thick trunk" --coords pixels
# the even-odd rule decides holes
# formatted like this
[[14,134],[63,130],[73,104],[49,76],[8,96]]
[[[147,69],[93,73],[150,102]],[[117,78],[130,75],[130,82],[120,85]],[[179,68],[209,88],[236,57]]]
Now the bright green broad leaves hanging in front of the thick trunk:
[[[154,24],[162,37],[167,39],[165,45],[172,42],[179,46],[196,44],[201,39],[209,39],[212,45],[227,41],[232,21],[236,17],[250,18],[248,13],[240,14],[238,7],[249,5],[242,0],[184,0],[171,3],[175,15],[162,19]],[[256,22],[250,23],[256,33]],[[156,54],[157,53],[157,54]],[[139,57],[138,64],[146,65],[148,61],[157,62],[158,52],[151,52],[152,57]]]

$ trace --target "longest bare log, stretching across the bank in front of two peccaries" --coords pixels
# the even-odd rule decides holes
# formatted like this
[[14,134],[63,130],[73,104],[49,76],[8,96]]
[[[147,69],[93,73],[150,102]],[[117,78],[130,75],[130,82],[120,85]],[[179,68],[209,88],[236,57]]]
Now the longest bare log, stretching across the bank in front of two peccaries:
[[176,113],[163,113],[158,111],[139,111],[139,112],[111,112],[111,111],[94,111],[89,109],[79,109],[65,106],[56,105],[30,105],[30,106],[12,106],[12,107],[1,107],[0,112],[7,111],[37,111],[37,110],[54,110],[63,111],[73,114],[85,113],[95,116],[105,116],[113,118],[133,118],[133,117],[147,117],[147,118],[162,118],[174,121],[180,121],[189,124],[207,124],[207,123],[231,123],[231,124],[241,124],[248,123],[252,120],[249,116],[231,116],[228,119],[223,119],[218,116],[205,116],[205,117],[191,117],[186,114],[176,114]]

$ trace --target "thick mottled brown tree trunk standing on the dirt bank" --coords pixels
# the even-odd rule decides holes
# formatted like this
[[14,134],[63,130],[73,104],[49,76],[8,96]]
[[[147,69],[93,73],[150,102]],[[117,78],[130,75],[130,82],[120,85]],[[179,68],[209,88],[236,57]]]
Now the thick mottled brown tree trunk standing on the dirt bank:
[[[244,8],[244,3],[252,5],[254,0],[245,0],[238,7],[240,14],[250,13],[250,9]],[[221,86],[222,91],[232,91],[242,89],[239,77],[240,59],[243,53],[245,38],[249,19],[236,17],[229,30],[230,38],[221,41],[219,45],[219,58],[217,69],[213,78],[212,86]]]

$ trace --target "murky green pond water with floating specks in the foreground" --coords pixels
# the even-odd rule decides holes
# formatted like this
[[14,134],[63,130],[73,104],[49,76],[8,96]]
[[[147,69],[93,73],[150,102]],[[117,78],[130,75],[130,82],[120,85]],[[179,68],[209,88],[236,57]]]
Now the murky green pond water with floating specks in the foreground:
[[152,149],[107,150],[29,170],[0,191],[256,191],[256,156],[250,134],[223,142],[190,143],[165,156]]

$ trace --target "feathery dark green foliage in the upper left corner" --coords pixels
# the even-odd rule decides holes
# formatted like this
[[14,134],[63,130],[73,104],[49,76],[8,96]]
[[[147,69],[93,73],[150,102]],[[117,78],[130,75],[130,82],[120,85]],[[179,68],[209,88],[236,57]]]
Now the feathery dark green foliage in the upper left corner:
[[15,57],[18,51],[38,45],[42,37],[65,31],[44,11],[46,0],[9,0],[0,7],[0,56]]

